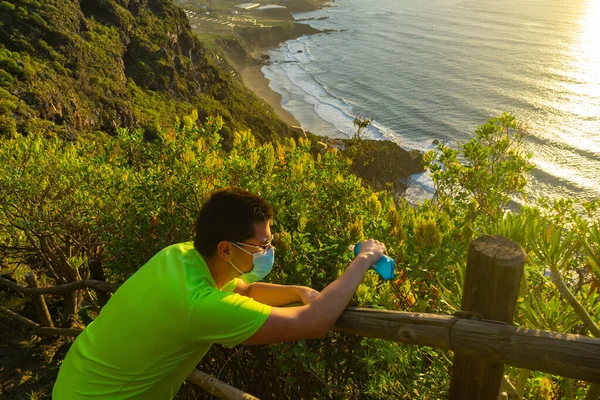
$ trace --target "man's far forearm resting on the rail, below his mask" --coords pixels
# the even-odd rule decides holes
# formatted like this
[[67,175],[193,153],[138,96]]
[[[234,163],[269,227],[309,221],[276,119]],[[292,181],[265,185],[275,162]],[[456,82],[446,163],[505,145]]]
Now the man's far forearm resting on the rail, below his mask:
[[318,291],[306,286],[276,285],[265,282],[256,282],[248,285],[242,280],[238,281],[234,292],[273,307],[281,307],[293,303],[308,304],[319,294]]

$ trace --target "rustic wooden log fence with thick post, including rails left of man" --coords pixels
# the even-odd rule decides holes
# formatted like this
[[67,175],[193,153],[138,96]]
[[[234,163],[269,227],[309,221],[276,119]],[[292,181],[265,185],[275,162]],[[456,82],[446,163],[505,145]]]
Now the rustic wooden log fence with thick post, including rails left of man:
[[[469,246],[460,312],[442,315],[348,308],[334,330],[452,350],[451,400],[497,399],[504,365],[600,383],[600,339],[512,325],[524,265],[525,252],[515,242],[498,236],[478,238]],[[106,298],[106,292],[119,287],[91,279],[49,288],[37,288],[32,278],[28,282],[30,287],[25,288],[0,278],[0,284],[35,299],[45,326],[3,307],[0,312],[39,334],[67,336],[76,336],[80,330],[52,327],[42,295],[92,288]],[[221,398],[255,399],[197,370],[188,380]]]

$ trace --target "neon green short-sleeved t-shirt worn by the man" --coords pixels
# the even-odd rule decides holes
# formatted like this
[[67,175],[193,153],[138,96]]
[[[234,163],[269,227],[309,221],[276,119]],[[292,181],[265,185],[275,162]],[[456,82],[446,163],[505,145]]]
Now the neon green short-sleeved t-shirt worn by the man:
[[244,342],[271,312],[226,286],[217,288],[192,242],[163,249],[77,337],[53,399],[172,399],[213,343]]

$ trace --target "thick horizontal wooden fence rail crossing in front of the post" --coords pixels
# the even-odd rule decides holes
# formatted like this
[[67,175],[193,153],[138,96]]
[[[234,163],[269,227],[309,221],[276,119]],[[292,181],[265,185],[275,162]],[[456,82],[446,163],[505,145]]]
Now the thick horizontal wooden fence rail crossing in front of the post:
[[600,339],[588,336],[450,315],[361,308],[347,309],[335,329],[600,383]]

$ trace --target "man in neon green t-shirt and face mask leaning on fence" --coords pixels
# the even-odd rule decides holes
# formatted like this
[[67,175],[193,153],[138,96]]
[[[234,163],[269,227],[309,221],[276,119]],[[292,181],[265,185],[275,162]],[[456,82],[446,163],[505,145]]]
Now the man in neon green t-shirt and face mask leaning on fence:
[[53,398],[172,399],[213,343],[324,337],[385,246],[365,241],[321,293],[261,283],[273,266],[272,220],[259,196],[238,188],[213,193],[200,210],[194,242],[156,254],[75,340]]

